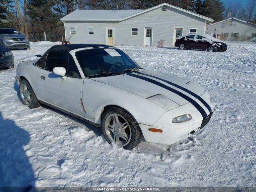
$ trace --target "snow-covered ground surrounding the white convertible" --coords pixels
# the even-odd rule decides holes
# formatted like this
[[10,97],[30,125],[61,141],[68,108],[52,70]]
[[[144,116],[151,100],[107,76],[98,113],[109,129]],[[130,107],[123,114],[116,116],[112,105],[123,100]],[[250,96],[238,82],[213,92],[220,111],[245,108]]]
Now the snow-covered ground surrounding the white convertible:
[[212,96],[207,126],[171,146],[126,151],[100,130],[46,107],[22,105],[18,60],[52,44],[15,50],[0,70],[0,186],[256,186],[256,44],[210,53],[120,46],[143,68],[190,78]]

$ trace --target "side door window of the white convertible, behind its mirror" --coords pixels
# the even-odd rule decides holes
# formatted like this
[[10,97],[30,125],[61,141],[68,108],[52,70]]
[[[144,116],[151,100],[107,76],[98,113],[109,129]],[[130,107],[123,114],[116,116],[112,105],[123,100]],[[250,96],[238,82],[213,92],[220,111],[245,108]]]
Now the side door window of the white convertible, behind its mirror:
[[45,70],[52,71],[54,67],[64,67],[67,74],[68,53],[66,51],[50,51],[45,62]]

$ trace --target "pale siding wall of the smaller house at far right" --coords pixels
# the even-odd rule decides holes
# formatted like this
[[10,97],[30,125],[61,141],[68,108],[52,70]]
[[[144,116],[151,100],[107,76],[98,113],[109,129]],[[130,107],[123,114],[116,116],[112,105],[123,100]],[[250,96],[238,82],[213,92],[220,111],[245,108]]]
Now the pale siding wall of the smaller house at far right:
[[[256,32],[256,26],[253,24],[244,23],[238,21],[236,19],[231,19],[232,26],[230,26],[230,20],[226,20],[217,24],[213,24],[211,26],[206,26],[206,33],[207,34],[222,34],[228,33],[228,40],[232,40],[231,33],[239,33],[240,38],[252,37],[252,33]],[[240,39],[242,40],[242,39]]]

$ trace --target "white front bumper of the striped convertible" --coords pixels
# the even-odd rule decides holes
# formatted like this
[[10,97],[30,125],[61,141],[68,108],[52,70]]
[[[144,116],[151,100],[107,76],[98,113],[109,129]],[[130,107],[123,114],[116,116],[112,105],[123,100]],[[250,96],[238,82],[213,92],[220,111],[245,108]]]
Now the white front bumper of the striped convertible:
[[[214,105],[210,101],[210,95],[207,92],[204,92],[201,95],[201,98],[203,98],[204,101],[208,103],[213,111]],[[195,101],[200,103],[198,99],[196,99]],[[188,138],[200,128],[203,128],[210,121],[212,112],[208,111],[204,105],[201,106],[202,108],[204,108],[207,114],[207,116],[205,116],[204,118],[191,103],[187,103],[167,111],[153,125],[139,124],[144,139],[147,142],[170,145],[179,140],[184,140]],[[182,123],[172,123],[172,118],[183,114],[190,114],[192,116],[192,119]],[[161,129],[162,133],[151,132],[148,130],[149,128]]]

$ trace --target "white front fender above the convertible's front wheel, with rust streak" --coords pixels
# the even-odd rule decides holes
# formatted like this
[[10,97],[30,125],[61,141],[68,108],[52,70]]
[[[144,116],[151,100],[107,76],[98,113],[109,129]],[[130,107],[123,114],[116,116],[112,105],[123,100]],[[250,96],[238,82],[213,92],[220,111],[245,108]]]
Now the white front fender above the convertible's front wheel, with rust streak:
[[[114,105],[127,110],[138,123],[153,125],[166,110],[153,102],[129,91],[92,79],[84,81],[84,100],[92,110],[93,121],[100,124],[101,114],[106,106]],[[94,110],[94,112],[93,112]]]

